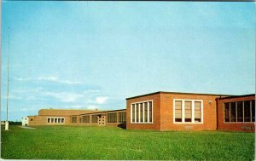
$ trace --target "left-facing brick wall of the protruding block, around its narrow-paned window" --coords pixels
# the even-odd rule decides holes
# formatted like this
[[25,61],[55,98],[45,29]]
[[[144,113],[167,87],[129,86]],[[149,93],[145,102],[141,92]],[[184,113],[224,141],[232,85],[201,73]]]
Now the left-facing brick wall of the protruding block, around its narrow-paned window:
[[[131,124],[131,103],[153,100],[153,124]],[[126,129],[160,130],[160,94],[126,100]]]

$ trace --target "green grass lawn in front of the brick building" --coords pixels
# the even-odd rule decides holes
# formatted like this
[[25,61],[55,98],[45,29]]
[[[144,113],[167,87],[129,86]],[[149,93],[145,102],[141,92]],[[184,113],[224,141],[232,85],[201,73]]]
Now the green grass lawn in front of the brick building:
[[253,160],[254,134],[157,132],[114,127],[2,128],[1,158],[108,160]]

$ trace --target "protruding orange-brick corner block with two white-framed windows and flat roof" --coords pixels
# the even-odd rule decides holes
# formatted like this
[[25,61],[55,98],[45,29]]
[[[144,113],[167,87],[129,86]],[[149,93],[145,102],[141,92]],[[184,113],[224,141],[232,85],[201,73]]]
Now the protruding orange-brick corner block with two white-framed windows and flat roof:
[[216,130],[217,97],[229,95],[156,92],[126,99],[127,129]]

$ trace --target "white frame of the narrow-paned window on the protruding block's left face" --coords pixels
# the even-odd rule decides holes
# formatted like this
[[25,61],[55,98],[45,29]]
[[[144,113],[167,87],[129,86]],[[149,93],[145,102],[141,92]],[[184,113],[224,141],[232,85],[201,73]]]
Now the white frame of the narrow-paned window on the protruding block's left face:
[[[152,103],[152,122],[150,123],[149,122],[149,102],[151,101],[151,103]],[[141,103],[143,103],[143,106],[141,106]],[[144,109],[145,109],[145,105],[144,105],[144,103],[147,103],[148,104],[148,106],[147,106],[147,108],[148,108],[148,122],[144,122],[144,115],[145,115],[145,113],[144,113]],[[136,104],[138,104],[138,106],[136,106]],[[134,112],[134,117],[135,117],[135,119],[134,119],[134,122],[132,122],[132,105],[134,105],[134,110],[135,110],[135,112]],[[138,109],[139,109],[139,111],[138,111],[138,113],[136,112],[136,108],[138,107]],[[140,115],[140,108],[141,107],[143,107],[143,122],[141,122],[141,115]],[[130,105],[130,109],[131,109],[131,124],[154,124],[154,101],[153,100],[148,100],[148,101],[137,101],[137,102],[132,102],[131,103],[131,105]],[[137,114],[139,114],[138,115],[138,123],[137,123],[137,118],[136,118],[136,116],[137,116]]]

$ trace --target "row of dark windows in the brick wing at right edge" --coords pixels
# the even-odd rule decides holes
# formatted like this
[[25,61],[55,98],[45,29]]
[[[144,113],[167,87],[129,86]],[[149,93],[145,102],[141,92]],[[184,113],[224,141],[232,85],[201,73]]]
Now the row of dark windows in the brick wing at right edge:
[[224,122],[245,123],[255,121],[255,101],[224,103]]

